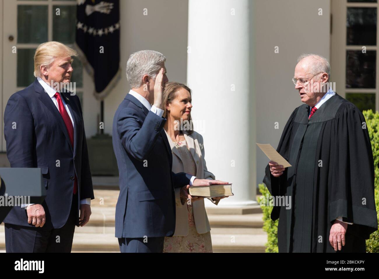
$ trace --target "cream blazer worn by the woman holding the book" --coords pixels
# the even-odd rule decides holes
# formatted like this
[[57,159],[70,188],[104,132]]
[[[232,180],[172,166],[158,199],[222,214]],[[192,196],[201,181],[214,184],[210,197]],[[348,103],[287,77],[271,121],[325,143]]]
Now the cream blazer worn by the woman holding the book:
[[[183,133],[189,151],[191,152],[196,164],[196,177],[198,179],[215,179],[213,173],[209,172],[207,170],[207,166],[205,165],[203,137],[195,131],[191,135],[188,135],[186,131],[183,131]],[[172,141],[167,132],[166,136],[172,150],[172,171],[174,173],[184,172],[184,166],[180,153],[175,147],[174,141]],[[174,236],[185,236],[188,235],[188,211],[187,203],[182,205],[180,202],[180,188],[175,188],[175,201],[176,224]],[[217,205],[220,200],[213,201],[210,199],[210,201]],[[204,199],[193,202],[192,206],[197,233],[205,234],[206,232],[209,232],[211,227],[209,225],[207,212],[205,212]]]

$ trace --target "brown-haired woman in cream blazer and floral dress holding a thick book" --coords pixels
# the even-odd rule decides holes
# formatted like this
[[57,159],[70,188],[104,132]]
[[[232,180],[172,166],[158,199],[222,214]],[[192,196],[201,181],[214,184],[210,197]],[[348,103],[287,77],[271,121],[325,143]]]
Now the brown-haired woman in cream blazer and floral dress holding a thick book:
[[[215,179],[207,170],[203,137],[193,130],[191,89],[168,82],[163,93],[164,124],[171,150],[172,171],[186,172],[199,179]],[[218,204],[220,197],[210,198]],[[210,225],[204,198],[191,197],[188,186],[175,189],[176,225],[173,237],[164,240],[163,252],[212,252]]]

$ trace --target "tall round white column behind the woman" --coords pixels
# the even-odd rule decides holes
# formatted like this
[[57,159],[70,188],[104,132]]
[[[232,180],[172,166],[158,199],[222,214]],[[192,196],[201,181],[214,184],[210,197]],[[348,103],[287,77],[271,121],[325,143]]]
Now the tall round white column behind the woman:
[[[194,129],[204,137],[209,171],[233,183],[234,196],[218,207],[255,205],[252,4],[188,3],[187,82],[193,90]],[[208,200],[206,206],[211,206]]]

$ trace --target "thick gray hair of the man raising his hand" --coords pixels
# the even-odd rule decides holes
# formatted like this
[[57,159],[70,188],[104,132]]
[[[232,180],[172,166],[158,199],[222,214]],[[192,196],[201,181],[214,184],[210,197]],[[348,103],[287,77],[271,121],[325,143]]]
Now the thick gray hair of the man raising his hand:
[[166,57],[155,50],[140,50],[132,53],[126,63],[126,77],[130,88],[142,85],[142,77],[148,75],[153,80],[159,73],[159,64],[166,61]]

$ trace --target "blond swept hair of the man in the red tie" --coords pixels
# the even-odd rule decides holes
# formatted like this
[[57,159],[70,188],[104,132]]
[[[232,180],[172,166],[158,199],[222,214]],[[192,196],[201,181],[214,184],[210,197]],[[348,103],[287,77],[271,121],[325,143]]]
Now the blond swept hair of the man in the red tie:
[[57,57],[78,56],[78,53],[61,42],[44,42],[34,53],[34,77],[41,77],[40,66],[49,67]]

